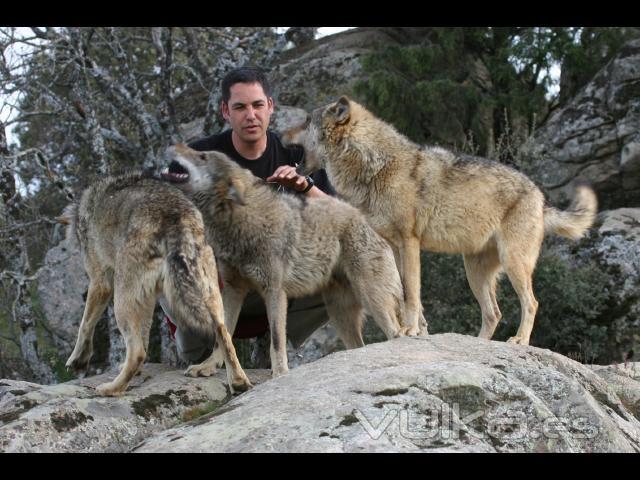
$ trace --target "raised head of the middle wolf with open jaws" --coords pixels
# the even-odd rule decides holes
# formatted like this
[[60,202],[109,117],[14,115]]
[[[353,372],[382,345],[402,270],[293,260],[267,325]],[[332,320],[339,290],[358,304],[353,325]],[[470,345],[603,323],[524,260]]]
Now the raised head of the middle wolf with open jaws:
[[217,202],[244,205],[246,172],[221,152],[199,152],[186,145],[169,147],[162,178],[190,197],[207,194]]

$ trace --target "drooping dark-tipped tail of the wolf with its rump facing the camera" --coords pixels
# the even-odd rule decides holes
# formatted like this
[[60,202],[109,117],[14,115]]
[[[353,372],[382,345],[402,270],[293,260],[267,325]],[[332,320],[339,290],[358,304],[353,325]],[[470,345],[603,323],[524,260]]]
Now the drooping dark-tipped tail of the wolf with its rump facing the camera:
[[167,237],[163,294],[172,320],[185,331],[210,340],[212,345],[215,326],[207,304],[212,304],[212,296],[221,301],[213,258],[204,236],[198,238],[189,228],[180,226]]

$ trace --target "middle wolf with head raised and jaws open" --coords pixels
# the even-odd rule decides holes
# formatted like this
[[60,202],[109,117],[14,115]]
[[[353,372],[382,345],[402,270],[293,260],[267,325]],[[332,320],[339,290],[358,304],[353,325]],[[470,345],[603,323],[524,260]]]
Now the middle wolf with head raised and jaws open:
[[[332,197],[276,192],[220,152],[176,145],[166,157],[163,177],[202,212],[220,267],[229,331],[250,289],[265,302],[273,377],[288,371],[289,298],[321,292],[347,348],[364,345],[364,310],[387,338],[403,335],[402,283],[393,252],[357,209]],[[214,351],[191,373],[210,375],[218,358]]]

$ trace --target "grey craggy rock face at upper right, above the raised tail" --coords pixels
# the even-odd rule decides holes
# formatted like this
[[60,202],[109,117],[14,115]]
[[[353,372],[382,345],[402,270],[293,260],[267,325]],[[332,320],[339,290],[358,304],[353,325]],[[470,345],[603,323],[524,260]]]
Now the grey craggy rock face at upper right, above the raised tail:
[[552,201],[576,178],[602,210],[640,206],[640,39],[627,43],[523,148],[524,168]]

